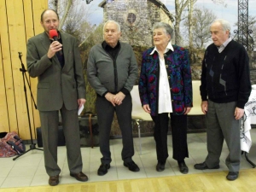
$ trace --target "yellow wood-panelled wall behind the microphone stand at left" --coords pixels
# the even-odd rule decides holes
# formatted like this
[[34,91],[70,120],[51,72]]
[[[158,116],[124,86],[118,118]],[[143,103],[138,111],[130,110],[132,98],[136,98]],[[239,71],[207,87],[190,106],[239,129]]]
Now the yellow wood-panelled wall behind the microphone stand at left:
[[[26,110],[26,96],[21,61],[26,68],[26,41],[43,32],[40,15],[48,8],[47,0],[1,0],[0,2],[0,132],[16,131],[22,139],[30,139]],[[18,52],[22,53],[21,61]],[[37,79],[24,76],[31,84],[32,96],[37,98]],[[40,125],[38,110],[26,84],[28,110],[35,138],[35,128]]]

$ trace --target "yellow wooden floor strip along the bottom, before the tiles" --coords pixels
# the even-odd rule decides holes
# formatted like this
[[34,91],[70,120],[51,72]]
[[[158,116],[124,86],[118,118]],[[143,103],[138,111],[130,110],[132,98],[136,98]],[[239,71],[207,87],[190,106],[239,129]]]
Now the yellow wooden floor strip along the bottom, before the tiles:
[[228,181],[227,172],[207,172],[171,177],[119,180],[95,183],[60,184],[0,189],[0,192],[253,192],[256,191],[256,169],[241,170],[236,181]]

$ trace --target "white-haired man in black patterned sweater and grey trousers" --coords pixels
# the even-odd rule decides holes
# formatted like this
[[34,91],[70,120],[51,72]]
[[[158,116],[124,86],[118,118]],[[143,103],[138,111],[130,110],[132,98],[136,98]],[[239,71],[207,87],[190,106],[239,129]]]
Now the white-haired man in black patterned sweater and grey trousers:
[[230,154],[225,163],[226,178],[236,180],[240,170],[240,127],[252,87],[246,49],[230,38],[230,23],[214,20],[210,26],[212,44],[205,52],[201,73],[201,110],[207,122],[207,158],[195,169],[218,169],[224,140]]

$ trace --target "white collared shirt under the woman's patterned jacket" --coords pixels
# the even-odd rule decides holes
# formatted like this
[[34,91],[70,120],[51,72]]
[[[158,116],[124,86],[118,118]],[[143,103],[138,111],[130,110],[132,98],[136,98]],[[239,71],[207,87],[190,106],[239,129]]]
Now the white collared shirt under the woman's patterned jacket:
[[[167,44],[165,54],[169,49],[172,49],[173,51],[171,42]],[[158,52],[156,47],[154,47],[150,55],[152,55],[154,51]],[[159,76],[159,93],[158,93],[158,113],[172,113],[172,97],[171,97],[169,80],[166,72],[166,61],[164,58],[160,58],[160,55],[159,55],[159,60],[160,60],[160,76]]]

